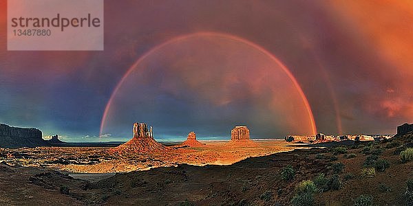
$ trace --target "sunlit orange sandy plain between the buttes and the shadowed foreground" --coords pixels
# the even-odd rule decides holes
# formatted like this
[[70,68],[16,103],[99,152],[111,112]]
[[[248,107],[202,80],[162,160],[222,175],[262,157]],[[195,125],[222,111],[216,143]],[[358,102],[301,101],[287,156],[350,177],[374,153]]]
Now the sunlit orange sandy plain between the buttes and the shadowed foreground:
[[[205,146],[176,148],[165,152],[123,153],[110,148],[40,147],[0,149],[0,161],[12,165],[51,168],[72,173],[114,173],[150,168],[189,165],[231,165],[248,157],[260,157],[294,150],[282,139],[256,140],[258,146],[229,145],[228,141],[201,141]],[[76,175],[76,174],[75,174]]]

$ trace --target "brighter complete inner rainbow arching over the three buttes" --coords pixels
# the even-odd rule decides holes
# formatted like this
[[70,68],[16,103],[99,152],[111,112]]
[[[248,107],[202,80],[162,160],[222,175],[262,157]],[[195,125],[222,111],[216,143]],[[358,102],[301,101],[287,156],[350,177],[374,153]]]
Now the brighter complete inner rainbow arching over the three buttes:
[[131,67],[129,67],[129,69],[127,70],[125,75],[120,79],[118,84],[116,84],[116,87],[115,87],[114,91],[112,92],[112,94],[109,98],[109,101],[106,104],[105,111],[104,111],[103,117],[102,117],[102,121],[100,122],[99,137],[103,133],[103,127],[105,126],[107,113],[109,112],[109,108],[112,105],[112,102],[114,100],[114,96],[116,95],[116,93],[118,92],[120,87],[122,86],[123,82],[125,82],[126,78],[129,76],[129,74],[132,71],[134,71],[134,68],[136,68],[136,66],[139,65],[140,62],[142,62],[142,60],[145,60],[145,58],[147,58],[147,56],[150,56],[154,52],[158,51],[158,49],[161,49],[162,47],[165,47],[166,45],[169,45],[171,43],[176,43],[176,42],[179,42],[179,41],[183,41],[187,38],[193,38],[193,37],[199,37],[199,36],[216,36],[216,37],[221,37],[221,38],[229,38],[233,41],[239,41],[239,42],[245,43],[246,45],[250,45],[251,47],[254,47],[258,51],[262,52],[263,54],[265,54],[266,56],[271,58],[273,61],[275,61],[277,63],[277,65],[279,65],[283,69],[283,71],[286,72],[288,78],[290,78],[290,80],[293,82],[294,86],[296,87],[297,91],[299,92],[299,95],[301,96],[302,100],[304,101],[304,105],[306,106],[308,115],[310,116],[310,122],[311,122],[311,128],[312,128],[313,135],[315,135],[317,133],[317,127],[315,125],[313,111],[311,111],[310,104],[308,103],[306,95],[304,95],[304,92],[302,91],[302,89],[299,86],[297,80],[293,76],[293,73],[291,73],[290,70],[278,58],[276,58],[273,54],[268,52],[266,49],[264,49],[260,45],[257,45],[255,43],[253,43],[251,41],[248,41],[244,38],[241,38],[239,36],[234,36],[232,34],[217,33],[217,32],[196,32],[196,33],[185,34],[185,35],[182,35],[182,36],[178,36],[176,38],[172,38],[169,41],[166,41],[165,43],[161,43],[160,45],[157,45],[157,46],[153,47],[148,52],[146,52],[145,54],[140,56],[140,58],[138,58],[138,60],[136,60],[136,62],[134,62],[134,64]]

